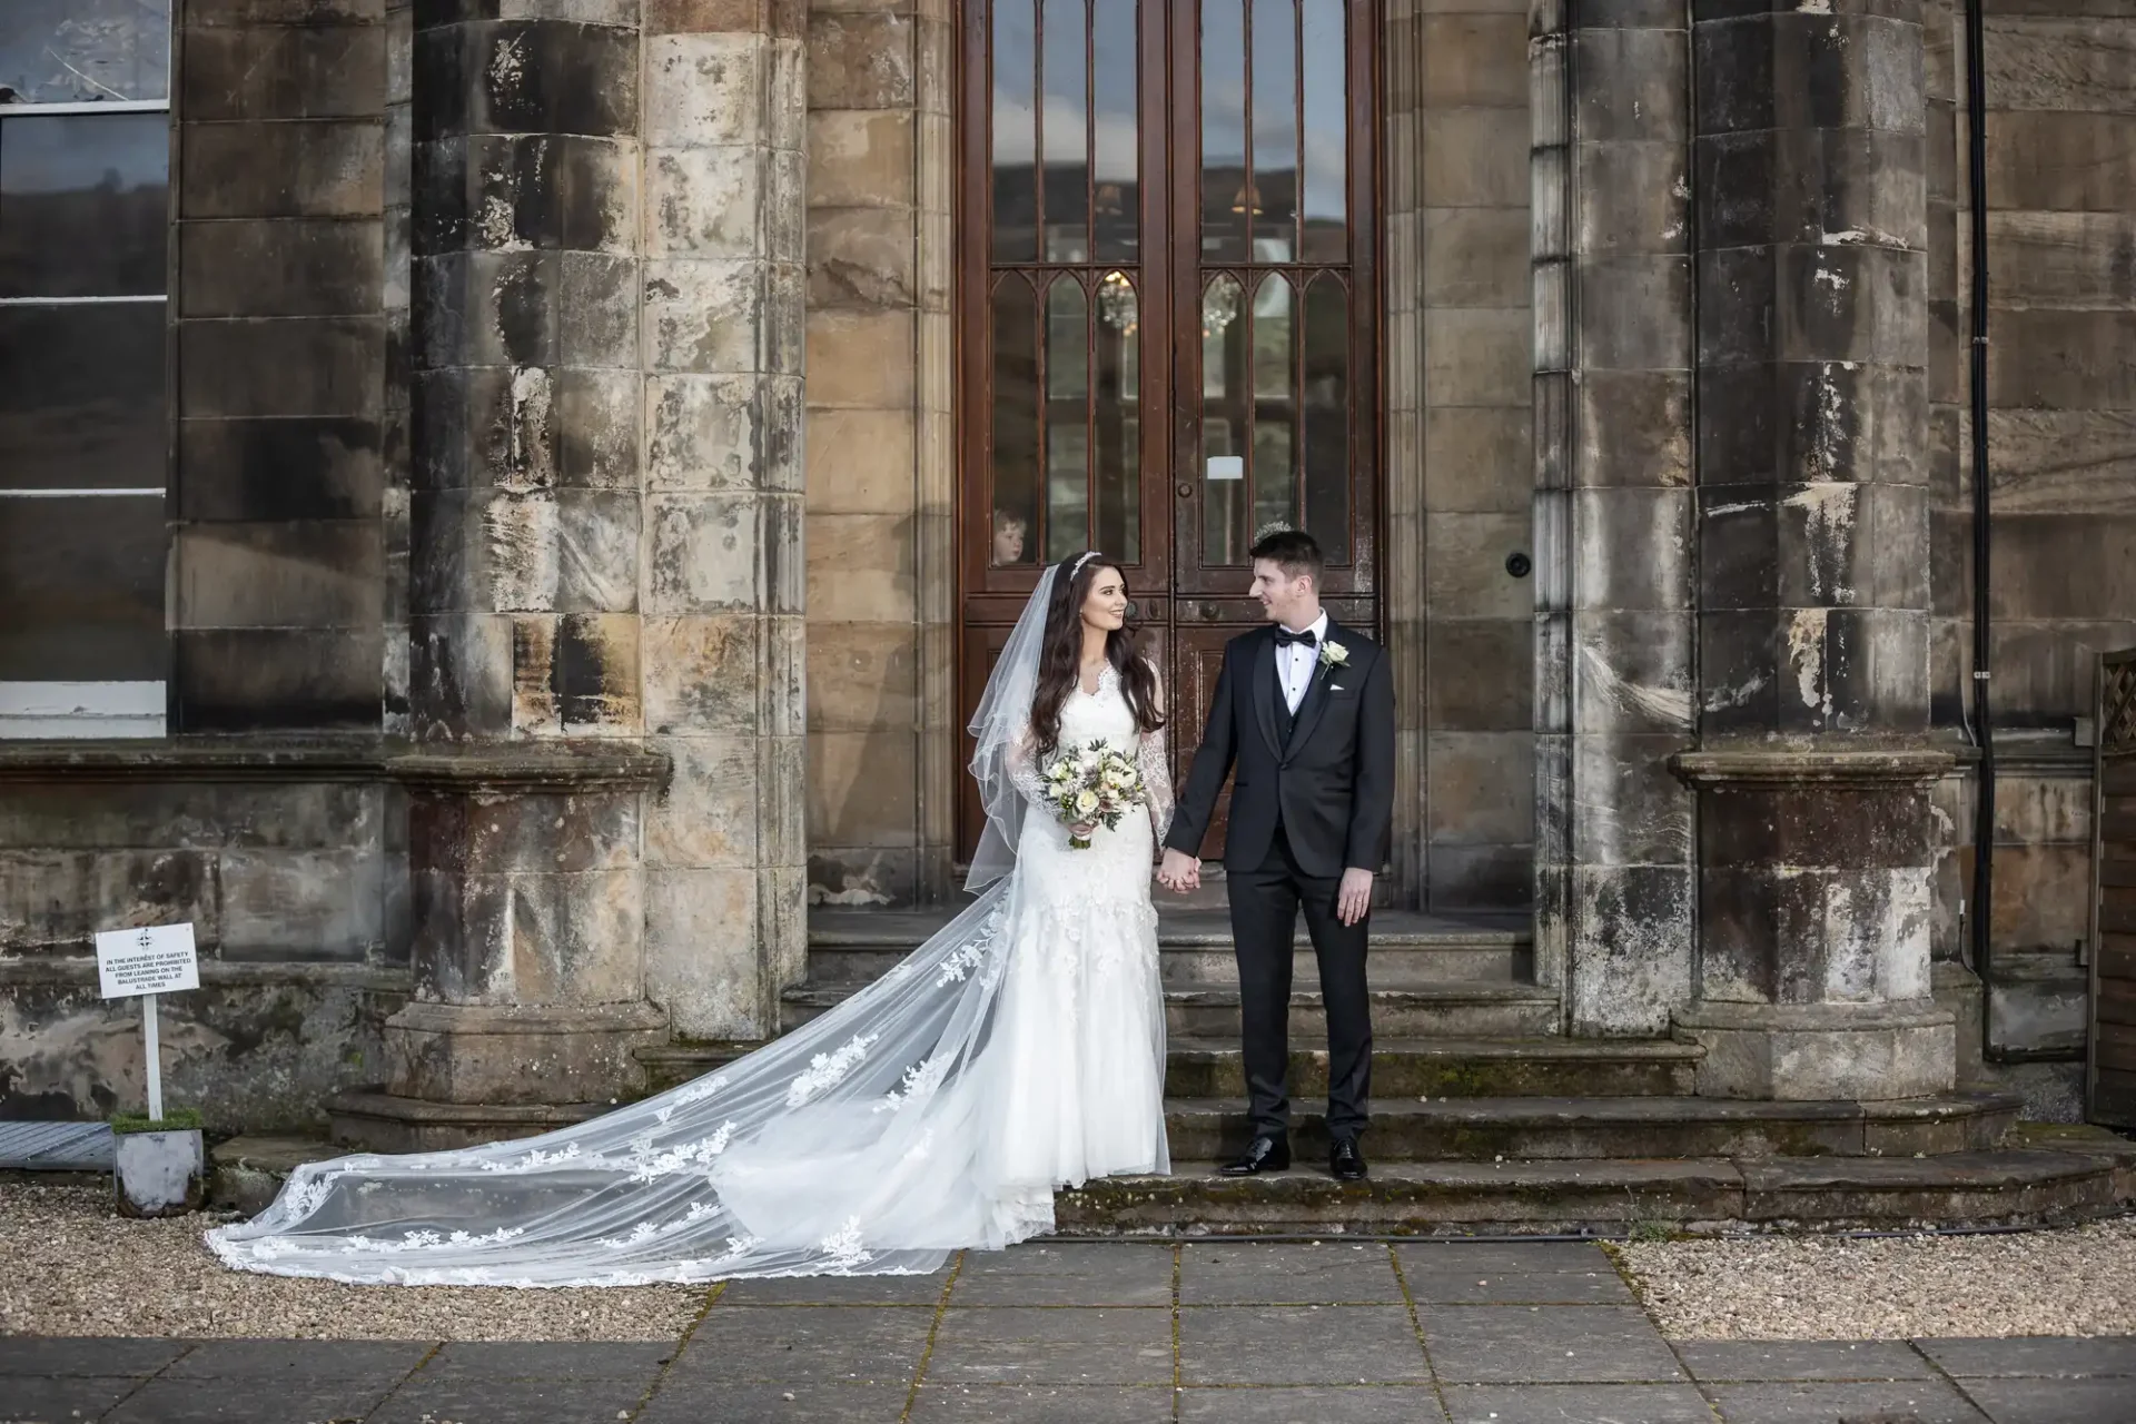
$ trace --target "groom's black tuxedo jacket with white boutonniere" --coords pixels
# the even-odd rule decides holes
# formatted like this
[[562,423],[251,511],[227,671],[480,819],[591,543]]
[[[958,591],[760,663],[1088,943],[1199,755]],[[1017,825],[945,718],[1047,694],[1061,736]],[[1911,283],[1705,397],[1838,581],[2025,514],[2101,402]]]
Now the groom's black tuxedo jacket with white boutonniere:
[[1275,626],[1232,638],[1215,679],[1209,730],[1194,751],[1166,848],[1200,854],[1215,796],[1237,764],[1224,865],[1256,871],[1277,816],[1307,875],[1378,873],[1395,818],[1395,685],[1386,653],[1329,619],[1344,666],[1318,662],[1290,737],[1279,730]]

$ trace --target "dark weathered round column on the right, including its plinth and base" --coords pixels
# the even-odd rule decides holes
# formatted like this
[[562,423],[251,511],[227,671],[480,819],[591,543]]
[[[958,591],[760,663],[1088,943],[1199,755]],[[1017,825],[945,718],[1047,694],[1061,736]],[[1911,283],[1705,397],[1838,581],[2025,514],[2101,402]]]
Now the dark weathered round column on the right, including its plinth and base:
[[1952,1085],[1929,997],[1920,6],[1694,6],[1700,1091]]

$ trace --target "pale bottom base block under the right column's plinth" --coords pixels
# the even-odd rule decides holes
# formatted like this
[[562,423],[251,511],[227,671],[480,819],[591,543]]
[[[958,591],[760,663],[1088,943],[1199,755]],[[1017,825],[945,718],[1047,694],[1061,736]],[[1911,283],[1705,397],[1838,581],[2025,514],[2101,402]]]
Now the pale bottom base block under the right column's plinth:
[[1675,1035],[1707,1050],[1700,1097],[1888,1102],[1948,1093],[1957,1082],[1957,1027],[1933,999],[1707,1001],[1677,1012]]

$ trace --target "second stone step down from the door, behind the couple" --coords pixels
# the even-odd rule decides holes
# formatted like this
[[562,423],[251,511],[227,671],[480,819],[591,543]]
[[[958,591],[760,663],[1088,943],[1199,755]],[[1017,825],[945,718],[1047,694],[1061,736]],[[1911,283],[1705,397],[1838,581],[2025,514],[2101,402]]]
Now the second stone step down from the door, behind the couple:
[[[854,984],[807,982],[780,995],[780,1031],[790,1033],[842,1003]],[[1239,991],[1224,986],[1166,986],[1164,1025],[1175,1038],[1222,1038],[1239,1031]],[[1557,993],[1534,984],[1452,980],[1371,991],[1373,1033],[1391,1038],[1540,1038],[1557,1033]],[[1290,995],[1290,1033],[1297,1042],[1326,1035],[1316,988]]]

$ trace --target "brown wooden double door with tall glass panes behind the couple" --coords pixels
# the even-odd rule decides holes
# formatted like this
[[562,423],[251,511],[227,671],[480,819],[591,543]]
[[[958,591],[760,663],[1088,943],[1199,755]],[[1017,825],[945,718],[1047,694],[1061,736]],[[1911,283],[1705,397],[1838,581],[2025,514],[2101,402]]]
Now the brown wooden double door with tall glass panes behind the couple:
[[[963,0],[963,709],[1040,570],[1126,570],[1200,737],[1260,529],[1309,529],[1378,623],[1369,0]],[[978,835],[965,794],[961,841]],[[1218,854],[1222,820],[1207,852]]]

